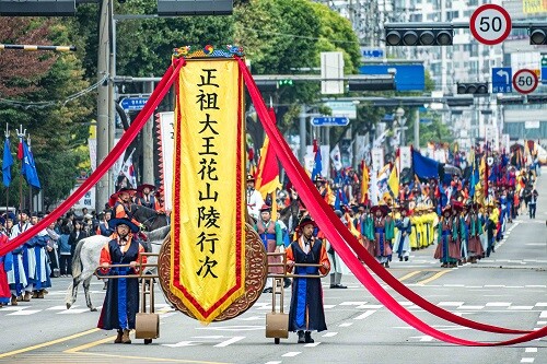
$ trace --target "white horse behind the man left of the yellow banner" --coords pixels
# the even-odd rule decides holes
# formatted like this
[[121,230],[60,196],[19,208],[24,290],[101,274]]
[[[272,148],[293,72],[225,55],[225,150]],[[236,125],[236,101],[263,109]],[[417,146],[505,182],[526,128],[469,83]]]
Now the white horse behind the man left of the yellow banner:
[[[153,216],[158,218],[154,222],[150,222],[150,216],[152,215],[150,210],[153,211]],[[137,208],[137,206],[135,206],[133,211],[136,211],[133,213],[133,218],[144,225],[148,224],[147,226],[156,227],[159,225],[163,225],[163,227],[159,227],[151,231],[150,233],[147,233],[148,240],[151,245],[151,253],[159,253],[165,236],[167,236],[171,231],[171,226],[166,225],[166,216],[163,214],[158,214],[154,210],[143,207]],[[141,213],[139,214],[137,213],[137,211],[141,211]],[[97,310],[91,303],[90,282],[91,278],[95,273],[95,269],[100,265],[101,249],[109,240],[110,238],[108,236],[93,235],[83,238],[78,243],[74,250],[74,256],[72,258],[72,282],[70,283],[67,290],[67,295],[65,297],[67,309],[74,304],[78,295],[78,286],[81,282],[83,282],[85,303],[92,312]],[[152,265],[154,265],[156,261],[158,260],[155,257],[150,257],[149,259],[149,263]],[[147,271],[152,271],[152,269],[147,269]]]

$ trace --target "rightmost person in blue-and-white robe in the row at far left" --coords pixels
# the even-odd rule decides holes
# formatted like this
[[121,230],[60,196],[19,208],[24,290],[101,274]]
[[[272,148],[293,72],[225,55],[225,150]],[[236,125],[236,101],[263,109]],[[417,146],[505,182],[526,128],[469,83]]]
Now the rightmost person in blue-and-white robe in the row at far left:
[[[31,224],[34,226],[39,222],[42,216],[37,212],[31,215]],[[51,279],[49,278],[51,271],[47,263],[47,240],[48,235],[45,230],[38,232],[32,238],[34,240],[34,255],[36,259],[36,271],[34,272],[34,287],[33,287],[33,298],[44,298],[47,293],[46,289],[51,286]]]

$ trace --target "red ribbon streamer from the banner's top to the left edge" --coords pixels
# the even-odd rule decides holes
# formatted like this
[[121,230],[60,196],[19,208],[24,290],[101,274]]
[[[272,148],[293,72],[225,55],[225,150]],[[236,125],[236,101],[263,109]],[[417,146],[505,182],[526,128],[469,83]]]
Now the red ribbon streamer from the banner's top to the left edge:
[[161,101],[170,90],[173,81],[178,77],[178,71],[186,63],[184,59],[175,59],[173,66],[171,66],[166,71],[160,83],[155,87],[152,95],[150,95],[149,101],[139,113],[135,121],[131,124],[129,129],[124,132],[119,142],[116,146],[108,153],[108,155],[104,158],[104,161],[97,166],[95,172],[91,174],[91,176],[80,186],[74,193],[72,193],[65,202],[62,202],[57,209],[55,209],[51,213],[49,213],[46,218],[44,218],[39,223],[28,228],[26,232],[22,233],[14,239],[12,239],[9,244],[0,247],[0,256],[5,255],[8,251],[15,249],[16,247],[23,245],[31,237],[36,235],[38,232],[45,230],[50,223],[57,221],[57,219],[68,211],[70,207],[72,207],[78,200],[80,200],[85,192],[90,190],[103,175],[108,171],[109,167],[118,160],[121,153],[129,146],[131,141],[137,137],[139,131],[142,129],[144,124],[147,124],[148,119],[154,111],[154,109],[160,105]]

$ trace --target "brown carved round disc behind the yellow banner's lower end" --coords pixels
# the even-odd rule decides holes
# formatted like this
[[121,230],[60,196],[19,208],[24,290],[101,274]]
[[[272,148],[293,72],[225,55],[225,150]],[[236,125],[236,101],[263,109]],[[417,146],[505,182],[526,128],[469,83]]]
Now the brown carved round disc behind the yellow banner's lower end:
[[[245,294],[235,300],[213,321],[225,321],[240,316],[251,308],[266,285],[267,255],[264,243],[249,224],[245,224]],[[171,279],[171,234],[165,238],[158,259],[160,285],[165,298],[188,317],[196,318],[183,301],[170,290]]]

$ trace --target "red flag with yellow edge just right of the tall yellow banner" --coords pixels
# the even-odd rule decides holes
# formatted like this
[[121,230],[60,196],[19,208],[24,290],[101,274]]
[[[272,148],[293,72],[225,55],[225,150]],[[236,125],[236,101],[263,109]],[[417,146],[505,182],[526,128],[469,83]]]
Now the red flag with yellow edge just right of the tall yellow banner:
[[[274,109],[268,109],[268,113],[271,119],[276,120],[276,113]],[[255,189],[260,192],[263,199],[266,199],[268,193],[272,193],[276,189],[281,188],[276,151],[274,146],[270,145],[268,137],[264,139],[264,145],[260,149],[260,160],[258,161],[258,169],[256,171],[255,179]]]

